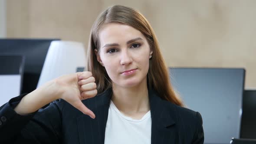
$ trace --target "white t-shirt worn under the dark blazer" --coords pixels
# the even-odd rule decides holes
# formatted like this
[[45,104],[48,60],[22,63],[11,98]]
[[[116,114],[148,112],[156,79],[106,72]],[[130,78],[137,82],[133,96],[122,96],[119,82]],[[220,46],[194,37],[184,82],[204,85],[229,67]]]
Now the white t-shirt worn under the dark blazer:
[[151,113],[140,120],[129,118],[110,101],[105,144],[151,144]]

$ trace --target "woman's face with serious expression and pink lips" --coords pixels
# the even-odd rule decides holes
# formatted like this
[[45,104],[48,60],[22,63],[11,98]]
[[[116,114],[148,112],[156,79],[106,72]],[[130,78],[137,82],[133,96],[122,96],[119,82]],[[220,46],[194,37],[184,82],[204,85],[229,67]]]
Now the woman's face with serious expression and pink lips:
[[152,51],[147,39],[137,29],[108,23],[99,31],[97,59],[105,67],[112,84],[134,87],[147,82]]

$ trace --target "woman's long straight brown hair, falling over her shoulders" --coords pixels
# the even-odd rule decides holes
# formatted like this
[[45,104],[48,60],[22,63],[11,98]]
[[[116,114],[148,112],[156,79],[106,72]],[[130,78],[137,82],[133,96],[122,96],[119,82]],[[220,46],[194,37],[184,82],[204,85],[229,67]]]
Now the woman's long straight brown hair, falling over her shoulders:
[[148,40],[149,46],[153,51],[152,58],[149,60],[149,70],[147,74],[148,87],[158,92],[159,96],[172,103],[184,106],[181,99],[174,93],[168,75],[167,65],[161,55],[157,37],[148,23],[148,20],[137,10],[130,7],[115,5],[103,11],[92,26],[88,46],[88,63],[86,70],[92,72],[97,84],[98,93],[102,93],[111,88],[111,79],[105,68],[97,61],[95,49],[99,52],[98,33],[102,25],[106,23],[121,23],[138,29]]

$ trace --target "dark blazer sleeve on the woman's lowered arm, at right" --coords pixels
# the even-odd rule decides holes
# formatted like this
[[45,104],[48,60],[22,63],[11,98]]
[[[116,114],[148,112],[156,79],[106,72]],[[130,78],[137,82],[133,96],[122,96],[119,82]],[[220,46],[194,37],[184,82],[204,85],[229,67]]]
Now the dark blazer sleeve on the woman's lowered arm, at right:
[[203,119],[199,112],[196,113],[197,120],[197,130],[194,135],[192,144],[203,144],[204,134],[203,134]]

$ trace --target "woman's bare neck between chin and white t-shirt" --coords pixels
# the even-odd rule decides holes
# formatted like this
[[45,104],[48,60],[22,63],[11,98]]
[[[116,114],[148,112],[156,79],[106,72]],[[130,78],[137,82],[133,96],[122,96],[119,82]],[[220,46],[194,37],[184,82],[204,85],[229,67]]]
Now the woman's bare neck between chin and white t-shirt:
[[150,110],[147,80],[135,87],[124,88],[112,85],[112,101],[126,115],[147,113]]

